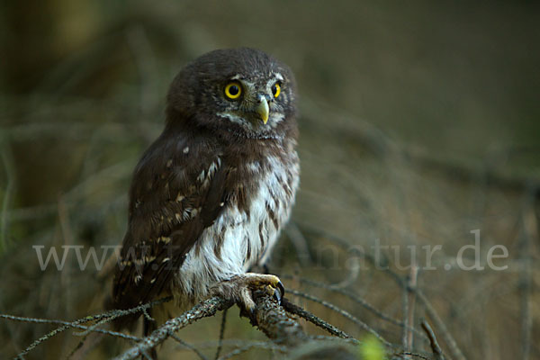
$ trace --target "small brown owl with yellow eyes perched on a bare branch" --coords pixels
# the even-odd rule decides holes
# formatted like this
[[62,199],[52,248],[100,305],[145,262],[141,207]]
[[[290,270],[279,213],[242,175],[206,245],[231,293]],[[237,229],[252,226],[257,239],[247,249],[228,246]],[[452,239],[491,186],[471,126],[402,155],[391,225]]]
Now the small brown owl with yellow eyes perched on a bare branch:
[[291,213],[295,113],[292,71],[257,49],[214,50],[175,76],[165,129],[133,173],[113,308],[172,294],[185,310],[220,295],[253,311],[254,290],[283,295],[278,277],[249,270]]

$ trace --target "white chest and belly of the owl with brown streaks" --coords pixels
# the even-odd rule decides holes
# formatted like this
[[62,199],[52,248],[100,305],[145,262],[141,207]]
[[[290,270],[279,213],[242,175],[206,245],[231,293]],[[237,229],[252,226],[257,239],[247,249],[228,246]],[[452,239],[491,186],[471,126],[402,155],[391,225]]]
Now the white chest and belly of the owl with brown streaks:
[[293,207],[299,183],[298,159],[296,154],[288,161],[269,157],[266,163],[250,162],[241,170],[249,180],[237,184],[238,191],[204,229],[187,254],[181,278],[199,279],[208,285],[263,264],[269,256]]

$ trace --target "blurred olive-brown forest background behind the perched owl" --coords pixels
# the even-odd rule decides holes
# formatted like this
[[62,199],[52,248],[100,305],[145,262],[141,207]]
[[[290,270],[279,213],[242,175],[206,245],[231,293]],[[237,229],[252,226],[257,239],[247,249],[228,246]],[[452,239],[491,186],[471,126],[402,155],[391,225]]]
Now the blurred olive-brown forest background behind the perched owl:
[[[451,358],[540,358],[538,23],[532,1],[3,2],[0,313],[71,321],[103,311],[110,279],[92,261],[81,271],[71,254],[63,271],[41,271],[33,247],[45,257],[119,244],[130,174],[162,130],[173,76],[206,51],[248,46],[282,59],[299,84],[302,189],[270,264],[285,287],[397,346],[403,323],[427,318]],[[456,254],[477,229],[485,269],[464,271]],[[383,250],[388,271],[368,261],[377,241],[394,246]],[[437,245],[426,270],[421,249]],[[494,262],[504,271],[486,266],[495,245],[508,249]],[[365,338],[320,303],[291,299]],[[228,320],[222,354],[266,339],[238,310]],[[178,336],[213,358],[220,321]],[[55,328],[0,319],[0,357]],[[74,331],[25,358],[102,359],[130,346]],[[414,334],[413,347],[429,351]],[[160,354],[201,358],[174,341]],[[280,355],[239,357],[253,356]]]

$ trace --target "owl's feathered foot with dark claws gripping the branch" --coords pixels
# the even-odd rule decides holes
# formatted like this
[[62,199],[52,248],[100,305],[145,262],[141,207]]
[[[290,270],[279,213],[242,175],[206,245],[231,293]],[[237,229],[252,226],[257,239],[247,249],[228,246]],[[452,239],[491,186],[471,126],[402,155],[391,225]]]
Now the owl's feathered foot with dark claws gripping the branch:
[[210,293],[236,302],[240,315],[251,318],[256,308],[253,293],[257,290],[273,296],[280,303],[285,293],[284,284],[279,277],[255,273],[235,275],[230,280],[212,286]]

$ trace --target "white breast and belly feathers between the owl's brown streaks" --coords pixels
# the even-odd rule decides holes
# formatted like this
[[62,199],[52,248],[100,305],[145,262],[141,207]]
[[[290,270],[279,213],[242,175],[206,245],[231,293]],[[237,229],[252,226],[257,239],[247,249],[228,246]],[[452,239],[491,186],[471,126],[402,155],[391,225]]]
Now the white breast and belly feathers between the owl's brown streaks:
[[[233,275],[245,273],[251,266],[262,265],[269,257],[272,247],[278,238],[279,230],[289,219],[294,202],[294,193],[299,183],[299,167],[294,155],[293,162],[285,166],[276,157],[268,157],[269,168],[257,181],[259,188],[249,207],[249,217],[245,211],[238,211],[234,205],[224,209],[211,227],[204,229],[198,240],[200,249],[195,252],[193,247],[185,258],[184,264],[175,276],[177,298],[185,295],[191,301],[197,301],[208,294],[208,288]],[[213,166],[213,164],[212,164]],[[258,162],[247,164],[254,175],[261,171]],[[214,170],[214,169],[212,169]],[[208,173],[208,172],[207,172]],[[288,195],[282,184],[287,184],[287,175],[293,178],[292,195]],[[275,212],[278,227],[269,217],[266,205]],[[259,226],[265,243],[261,243]],[[223,243],[220,247],[220,257],[214,252],[214,247],[220,234]],[[249,242],[250,257],[247,258]],[[198,256],[196,255],[198,254]]]

